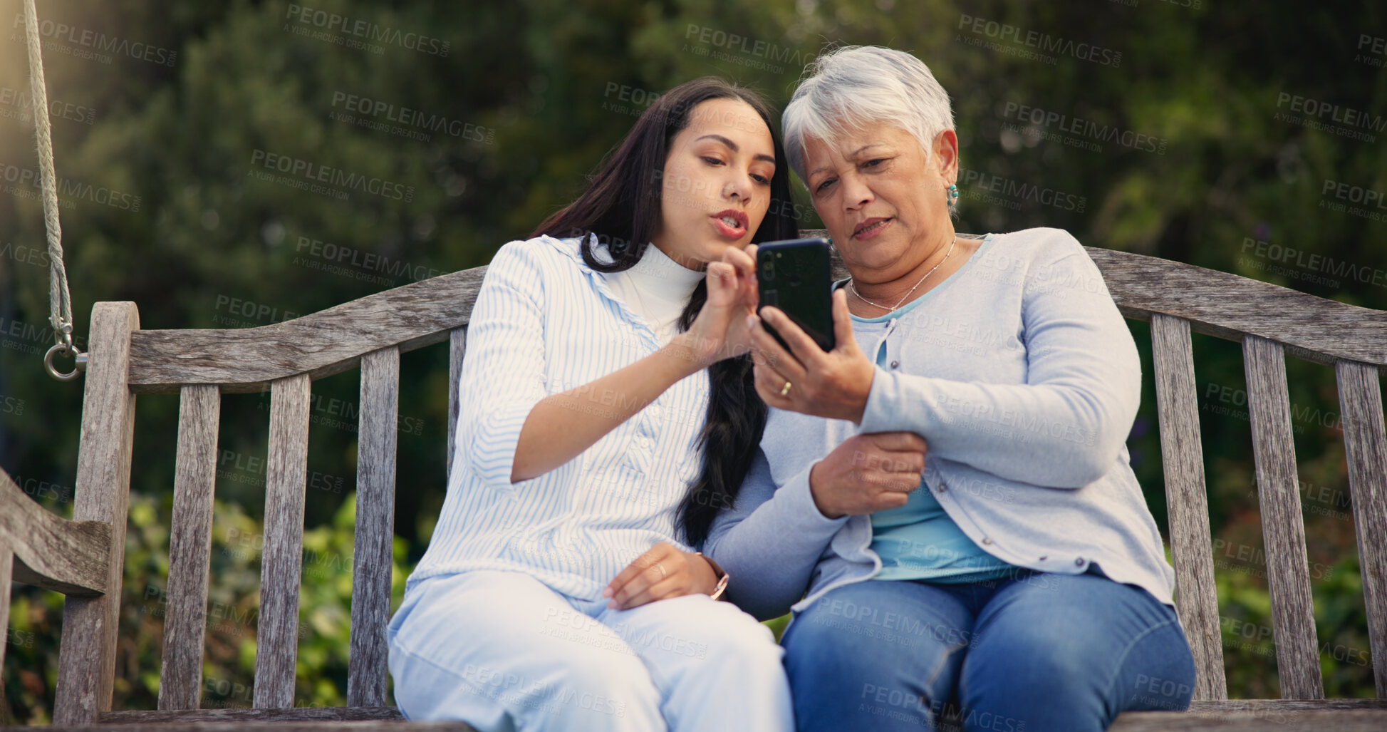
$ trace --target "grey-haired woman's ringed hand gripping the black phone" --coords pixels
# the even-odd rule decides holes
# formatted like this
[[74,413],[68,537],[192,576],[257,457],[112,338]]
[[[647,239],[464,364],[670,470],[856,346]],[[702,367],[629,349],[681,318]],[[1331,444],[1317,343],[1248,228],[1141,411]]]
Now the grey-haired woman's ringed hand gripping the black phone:
[[[746,317],[756,363],[756,393],[779,410],[861,424],[875,367],[853,338],[843,289],[834,292],[832,314],[836,343],[831,351],[820,349],[777,307],[766,306],[760,315]],[[789,350],[766,331],[761,321],[785,339]]]

